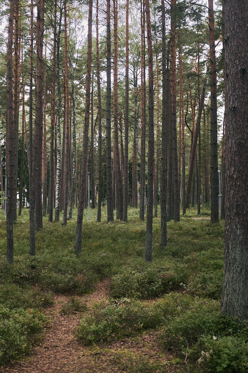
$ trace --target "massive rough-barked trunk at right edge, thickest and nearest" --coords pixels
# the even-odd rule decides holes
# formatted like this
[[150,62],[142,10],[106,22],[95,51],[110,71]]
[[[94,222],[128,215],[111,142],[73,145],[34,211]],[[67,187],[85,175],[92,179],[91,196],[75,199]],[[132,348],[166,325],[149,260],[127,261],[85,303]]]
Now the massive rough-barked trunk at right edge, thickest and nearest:
[[[225,25],[226,199],[221,311],[248,319],[247,1],[223,1]],[[242,32],[241,32],[242,30]]]

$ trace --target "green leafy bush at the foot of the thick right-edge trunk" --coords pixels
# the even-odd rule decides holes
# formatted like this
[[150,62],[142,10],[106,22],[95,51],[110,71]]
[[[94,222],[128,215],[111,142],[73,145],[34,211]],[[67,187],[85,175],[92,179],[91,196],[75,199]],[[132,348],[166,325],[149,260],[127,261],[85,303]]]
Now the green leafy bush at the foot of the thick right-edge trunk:
[[190,370],[247,372],[248,323],[221,314],[217,301],[185,294],[166,296],[160,307],[167,315],[160,332],[162,344],[176,347],[181,356],[187,351]]

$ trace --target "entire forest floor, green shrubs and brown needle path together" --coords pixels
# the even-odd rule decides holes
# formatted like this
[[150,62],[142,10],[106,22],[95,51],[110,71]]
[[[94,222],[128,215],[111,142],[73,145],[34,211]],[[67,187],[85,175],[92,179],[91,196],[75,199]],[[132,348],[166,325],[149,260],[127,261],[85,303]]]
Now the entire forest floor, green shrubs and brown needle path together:
[[213,335],[222,351],[221,338],[236,338],[236,329],[219,313],[224,224],[211,225],[209,209],[169,222],[165,251],[154,218],[152,263],[144,260],[146,222],[136,209],[128,223],[110,224],[106,208],[101,223],[96,210],[88,222],[86,211],[80,256],[74,210],[66,227],[44,219],[29,257],[28,213],[14,226],[12,266],[0,221],[0,373],[215,371],[202,351],[213,351]]

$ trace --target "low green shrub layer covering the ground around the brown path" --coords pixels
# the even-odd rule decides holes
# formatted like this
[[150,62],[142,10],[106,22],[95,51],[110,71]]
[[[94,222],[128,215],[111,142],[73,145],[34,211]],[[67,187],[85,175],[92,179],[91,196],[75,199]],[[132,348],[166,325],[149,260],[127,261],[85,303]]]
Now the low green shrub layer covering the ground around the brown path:
[[[39,320],[43,308],[52,304],[54,293],[74,297],[63,307],[62,312],[65,314],[83,311],[80,307],[84,308],[84,305],[78,304],[77,295],[92,292],[96,283],[103,278],[111,279],[110,298],[113,301],[95,305],[92,313],[89,311],[88,316],[83,318],[78,338],[86,344],[113,341],[149,328],[157,328],[161,329],[163,348],[170,345],[177,348],[181,351],[182,358],[187,348],[184,337],[186,332],[177,329],[175,325],[173,329],[172,320],[175,319],[176,322],[181,314],[190,312],[194,298],[201,305],[197,307],[205,307],[205,314],[218,314],[223,267],[223,222],[211,225],[209,220],[190,218],[181,219],[178,223],[169,222],[168,245],[165,250],[161,250],[160,218],[155,218],[152,263],[146,263],[146,222],[139,220],[139,210],[129,209],[128,223],[115,221],[110,224],[106,223],[106,210],[105,207],[101,223],[96,223],[96,209],[90,211],[90,222],[87,221],[86,211],[80,256],[74,253],[77,211],[73,211],[73,220],[66,227],[44,219],[42,231],[36,233],[36,256],[31,258],[29,210],[23,209],[22,216],[14,224],[15,252],[11,266],[5,260],[6,223],[3,212],[0,211],[0,307],[16,315],[10,319],[12,326],[17,325],[16,330],[12,326],[6,329],[10,341],[9,355],[1,363],[21,357],[32,346],[34,337],[26,331],[26,326],[18,326],[18,315],[29,323],[30,312],[37,312]],[[197,215],[195,209],[189,210],[189,213],[191,217]],[[203,214],[207,216],[209,210],[203,210]],[[153,298],[158,301],[144,302]],[[35,309],[39,311],[32,311]],[[201,309],[197,309],[197,312],[200,313]],[[189,314],[188,316],[191,317]],[[0,323],[5,323],[6,320],[6,314],[0,314]],[[209,324],[209,320],[205,321]],[[41,320],[35,336],[42,327],[44,322]],[[163,334],[166,327],[171,330],[171,334],[166,334],[168,339]],[[202,367],[207,367],[206,361],[199,364],[197,360],[202,356],[200,348],[205,352],[213,350],[208,347],[212,342],[212,331],[210,333],[210,329],[206,329],[206,332],[200,330],[198,333],[194,328],[193,325],[190,333],[195,333],[197,339],[189,346],[189,365],[192,361],[197,369],[203,369]],[[19,337],[16,336],[17,330]],[[1,341],[5,341],[4,335],[0,329]],[[173,335],[182,338],[181,342],[177,337],[173,340]],[[188,334],[187,336],[189,338]],[[220,334],[213,342],[220,341],[221,338],[229,338],[227,345],[231,345],[230,338],[239,336]],[[11,344],[15,339],[20,340],[18,348]],[[6,342],[3,343],[5,345]],[[234,345],[237,346],[237,343]],[[244,344],[246,340],[242,339],[241,346],[245,351]],[[220,351],[220,347],[218,348]]]

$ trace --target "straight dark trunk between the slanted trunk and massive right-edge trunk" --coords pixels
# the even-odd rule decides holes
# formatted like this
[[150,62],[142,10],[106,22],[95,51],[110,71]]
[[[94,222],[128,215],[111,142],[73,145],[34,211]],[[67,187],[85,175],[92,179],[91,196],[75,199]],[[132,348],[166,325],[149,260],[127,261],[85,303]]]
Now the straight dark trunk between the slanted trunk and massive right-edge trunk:
[[218,128],[217,128],[217,79],[215,56],[215,19],[213,0],[208,1],[210,47],[210,97],[211,97],[211,223],[219,222],[218,179]]

